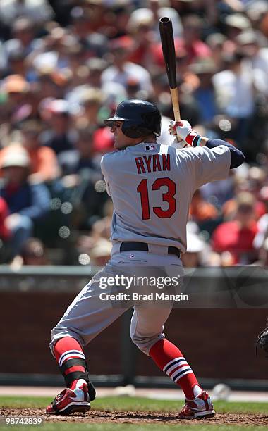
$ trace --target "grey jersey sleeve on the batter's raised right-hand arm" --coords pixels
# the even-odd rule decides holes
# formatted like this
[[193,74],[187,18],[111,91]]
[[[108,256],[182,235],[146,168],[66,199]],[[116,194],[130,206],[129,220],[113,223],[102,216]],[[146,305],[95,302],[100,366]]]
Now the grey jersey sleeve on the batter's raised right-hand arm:
[[196,189],[207,184],[207,182],[224,180],[228,177],[231,154],[227,146],[219,145],[213,149],[200,146],[184,151],[188,151],[190,156],[190,160],[188,158],[188,161],[191,164]]

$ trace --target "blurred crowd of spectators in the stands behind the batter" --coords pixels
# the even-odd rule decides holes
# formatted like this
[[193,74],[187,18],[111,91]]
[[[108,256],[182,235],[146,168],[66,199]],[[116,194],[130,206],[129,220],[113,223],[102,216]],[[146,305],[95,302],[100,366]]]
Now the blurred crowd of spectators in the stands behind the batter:
[[[0,263],[102,266],[103,120],[125,99],[173,118],[158,20],[173,22],[181,118],[246,163],[195,192],[185,266],[268,263],[268,2],[0,0]],[[186,187],[187,185],[185,185]]]

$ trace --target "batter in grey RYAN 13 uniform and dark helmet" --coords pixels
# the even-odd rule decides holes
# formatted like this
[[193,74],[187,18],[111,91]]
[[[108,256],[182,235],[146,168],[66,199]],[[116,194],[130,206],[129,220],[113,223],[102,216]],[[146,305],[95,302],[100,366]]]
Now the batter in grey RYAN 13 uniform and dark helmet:
[[[157,144],[161,115],[147,101],[118,105],[106,125],[114,133],[118,151],[101,161],[107,192],[114,203],[111,224],[111,260],[78,294],[51,331],[51,351],[66,381],[47,413],[69,414],[90,409],[95,388],[90,382],[83,346],[121,316],[126,308],[100,299],[100,280],[114,268],[176,268],[186,250],[188,209],[195,189],[223,180],[229,169],[244,161],[234,146],[197,135],[188,121],[171,122],[170,132],[181,142],[174,148]],[[183,148],[186,143],[190,148]],[[157,310],[143,301],[133,306],[130,337],[138,348],[185,393],[180,418],[214,416],[209,395],[200,387],[192,368],[177,346],[166,339],[164,323],[172,302]]]

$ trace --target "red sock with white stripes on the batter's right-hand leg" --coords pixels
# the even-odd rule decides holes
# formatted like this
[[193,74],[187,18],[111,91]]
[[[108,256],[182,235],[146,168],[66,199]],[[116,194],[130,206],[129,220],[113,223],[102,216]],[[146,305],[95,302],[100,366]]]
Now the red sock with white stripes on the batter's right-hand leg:
[[194,399],[202,392],[192,368],[190,368],[183,354],[167,339],[160,339],[149,352],[151,358],[177,385],[181,386],[186,399]]

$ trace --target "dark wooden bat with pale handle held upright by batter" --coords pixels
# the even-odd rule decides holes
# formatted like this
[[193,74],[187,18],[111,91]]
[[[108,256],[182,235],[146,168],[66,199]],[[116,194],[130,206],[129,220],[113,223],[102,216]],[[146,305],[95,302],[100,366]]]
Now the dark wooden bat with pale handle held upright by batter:
[[175,121],[181,120],[180,106],[178,103],[178,87],[176,73],[176,54],[174,46],[174,36],[172,21],[167,18],[159,19],[159,31],[162,43],[164,62],[166,65],[166,75],[169,78],[169,89]]

